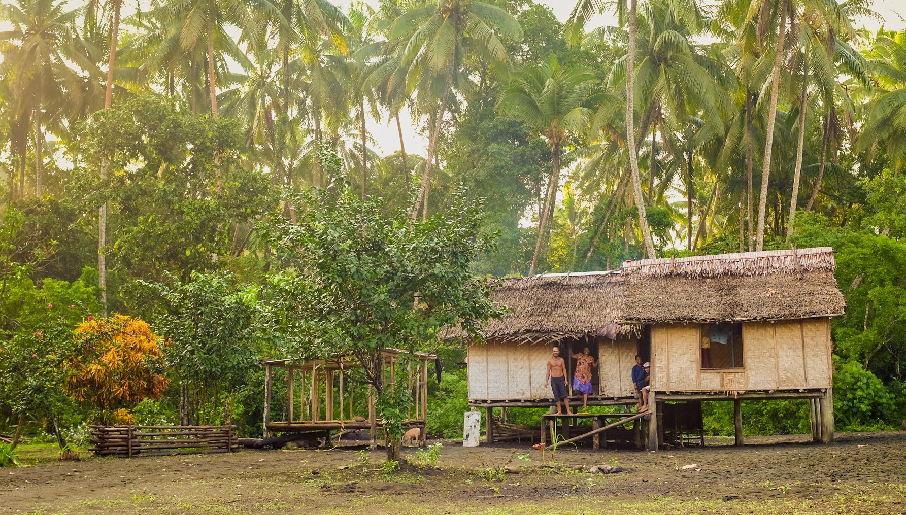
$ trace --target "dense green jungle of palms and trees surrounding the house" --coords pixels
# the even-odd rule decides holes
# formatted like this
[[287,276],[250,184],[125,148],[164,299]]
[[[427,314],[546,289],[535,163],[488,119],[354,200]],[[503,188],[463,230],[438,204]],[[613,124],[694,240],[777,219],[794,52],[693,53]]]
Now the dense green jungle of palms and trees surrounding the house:
[[[392,344],[439,353],[456,436],[439,330],[499,315],[487,275],[791,245],[836,251],[838,428],[906,418],[906,31],[866,0],[126,7],[0,5],[0,432],[256,435],[258,359]],[[802,401],[744,410],[808,430]]]

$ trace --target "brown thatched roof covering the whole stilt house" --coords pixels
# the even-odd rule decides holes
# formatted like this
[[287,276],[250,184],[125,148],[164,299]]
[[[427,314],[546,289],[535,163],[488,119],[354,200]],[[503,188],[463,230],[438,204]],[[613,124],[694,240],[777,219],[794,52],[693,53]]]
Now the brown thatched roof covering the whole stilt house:
[[612,272],[504,280],[493,299],[511,312],[487,339],[607,336],[655,322],[802,319],[843,313],[834,250],[721,254],[625,262]]

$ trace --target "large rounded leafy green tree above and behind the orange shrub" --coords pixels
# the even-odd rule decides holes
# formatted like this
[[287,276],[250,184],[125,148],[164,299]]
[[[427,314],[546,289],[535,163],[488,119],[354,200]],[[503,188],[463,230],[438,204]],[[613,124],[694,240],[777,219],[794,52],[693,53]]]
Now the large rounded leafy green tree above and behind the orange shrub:
[[85,128],[84,150],[94,163],[109,160],[113,180],[86,179],[85,187],[116,206],[114,264],[135,278],[165,281],[170,273],[188,281],[191,272],[216,270],[241,253],[247,237],[237,237],[236,224],[276,204],[270,180],[238,162],[241,141],[235,121],[158,98],[98,112]]

